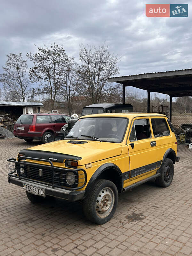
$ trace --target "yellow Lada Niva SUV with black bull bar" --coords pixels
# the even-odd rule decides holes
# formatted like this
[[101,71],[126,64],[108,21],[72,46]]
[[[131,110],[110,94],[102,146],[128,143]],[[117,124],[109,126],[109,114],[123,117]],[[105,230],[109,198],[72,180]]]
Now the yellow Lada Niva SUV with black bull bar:
[[83,201],[85,216],[98,224],[113,216],[118,193],[155,179],[173,179],[177,140],[169,119],[154,113],[82,116],[64,140],[20,150],[8,159],[9,183],[38,203],[46,196]]

